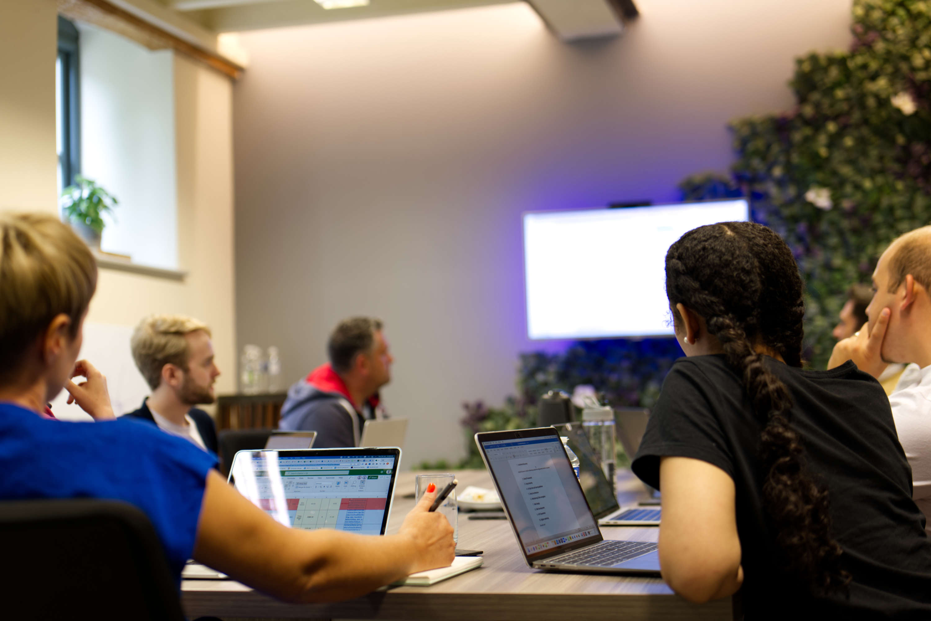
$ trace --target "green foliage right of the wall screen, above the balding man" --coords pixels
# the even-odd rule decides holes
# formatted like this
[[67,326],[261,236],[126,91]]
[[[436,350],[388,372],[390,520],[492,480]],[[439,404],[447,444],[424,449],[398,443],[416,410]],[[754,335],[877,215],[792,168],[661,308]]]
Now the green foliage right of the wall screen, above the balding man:
[[[853,15],[849,51],[796,61],[792,111],[731,124],[735,182],[805,278],[817,368],[844,291],[870,281],[896,236],[931,222],[931,2],[855,0]],[[688,189],[701,197],[701,182]]]

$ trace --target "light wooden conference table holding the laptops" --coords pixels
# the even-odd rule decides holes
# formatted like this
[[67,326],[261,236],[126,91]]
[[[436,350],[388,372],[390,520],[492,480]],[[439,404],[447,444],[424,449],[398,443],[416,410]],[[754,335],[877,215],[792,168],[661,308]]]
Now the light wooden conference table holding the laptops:
[[[397,532],[413,506],[415,472],[398,476],[388,532]],[[485,470],[456,473],[460,489],[492,488]],[[645,497],[629,473],[618,477],[618,496]],[[233,619],[430,619],[436,621],[627,621],[628,619],[731,619],[731,599],[695,605],[672,593],[659,578],[556,574],[527,567],[506,520],[468,520],[459,514],[459,547],[484,550],[482,567],[432,587],[390,587],[329,604],[289,604],[231,580],[184,580],[182,603],[189,618]],[[656,541],[658,529],[605,527],[606,539]]]

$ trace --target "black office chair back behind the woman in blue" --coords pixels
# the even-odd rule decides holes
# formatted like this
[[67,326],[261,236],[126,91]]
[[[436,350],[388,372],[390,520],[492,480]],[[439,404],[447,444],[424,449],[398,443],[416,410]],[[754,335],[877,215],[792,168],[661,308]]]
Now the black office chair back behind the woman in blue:
[[128,503],[0,502],[0,549],[5,618],[184,621],[155,528]]

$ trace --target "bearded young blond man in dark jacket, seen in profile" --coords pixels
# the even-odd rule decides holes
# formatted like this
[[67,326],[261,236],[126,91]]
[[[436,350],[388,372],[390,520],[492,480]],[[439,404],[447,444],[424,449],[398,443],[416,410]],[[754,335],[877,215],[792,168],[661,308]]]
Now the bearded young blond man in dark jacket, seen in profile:
[[207,324],[183,315],[150,315],[136,326],[130,347],[152,395],[127,415],[217,452],[213,419],[194,407],[216,400],[213,383],[220,375]]

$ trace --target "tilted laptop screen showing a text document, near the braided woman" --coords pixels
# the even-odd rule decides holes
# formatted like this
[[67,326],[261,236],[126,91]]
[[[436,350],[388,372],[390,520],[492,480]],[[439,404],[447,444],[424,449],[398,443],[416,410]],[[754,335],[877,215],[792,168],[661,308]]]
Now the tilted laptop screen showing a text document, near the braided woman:
[[[536,431],[546,435],[533,437]],[[482,440],[481,445],[528,559],[587,539],[600,541],[556,430],[522,435],[531,437]]]

